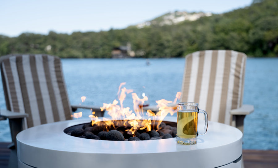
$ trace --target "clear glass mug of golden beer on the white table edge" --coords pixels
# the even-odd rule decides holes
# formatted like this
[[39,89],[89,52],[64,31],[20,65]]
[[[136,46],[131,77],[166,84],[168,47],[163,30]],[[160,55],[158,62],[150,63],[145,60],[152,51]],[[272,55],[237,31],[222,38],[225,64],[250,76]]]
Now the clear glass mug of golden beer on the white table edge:
[[[204,131],[197,131],[198,113],[204,114]],[[197,143],[197,136],[204,135],[208,130],[208,114],[198,108],[198,103],[178,103],[177,113],[177,143],[182,145],[194,145]]]

